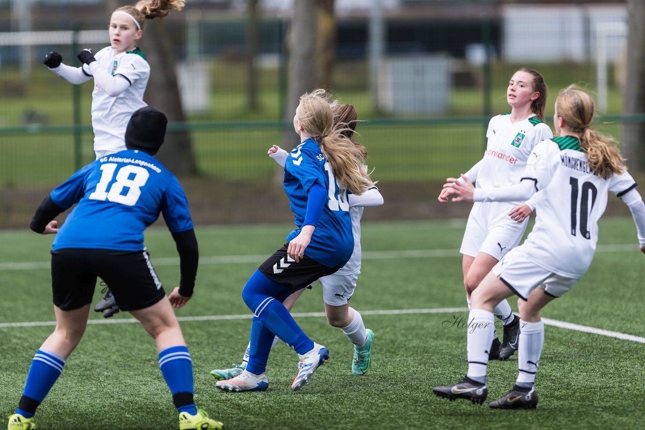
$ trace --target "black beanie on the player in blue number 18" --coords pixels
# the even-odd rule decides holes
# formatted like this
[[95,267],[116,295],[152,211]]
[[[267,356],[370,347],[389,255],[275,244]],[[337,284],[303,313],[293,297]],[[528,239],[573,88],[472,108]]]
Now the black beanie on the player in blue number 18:
[[125,130],[126,148],[155,155],[163,144],[166,124],[168,124],[166,115],[152,106],[135,110]]

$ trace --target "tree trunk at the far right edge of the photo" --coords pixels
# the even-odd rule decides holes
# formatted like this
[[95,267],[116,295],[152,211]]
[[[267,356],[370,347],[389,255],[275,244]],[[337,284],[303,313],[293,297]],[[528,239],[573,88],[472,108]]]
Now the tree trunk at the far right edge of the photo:
[[[623,112],[645,113],[645,2],[628,0],[627,79]],[[645,170],[645,123],[624,122],[622,154],[631,170]]]

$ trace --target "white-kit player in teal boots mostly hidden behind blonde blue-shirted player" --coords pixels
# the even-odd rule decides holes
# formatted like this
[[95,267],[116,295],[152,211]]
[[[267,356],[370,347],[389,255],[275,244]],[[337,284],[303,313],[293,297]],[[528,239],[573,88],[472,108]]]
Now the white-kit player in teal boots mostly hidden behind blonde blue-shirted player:
[[[349,139],[352,139],[357,121],[356,109],[351,104],[341,104],[334,108],[334,123],[337,127],[342,128],[342,134]],[[356,142],[355,144],[358,148],[361,148],[361,151],[364,151],[365,158],[367,158],[367,150],[364,146]],[[287,151],[275,145],[269,149],[268,154],[283,167],[289,155]],[[356,281],[361,273],[361,217],[363,208],[366,206],[380,206],[383,204],[383,197],[376,187],[372,187],[361,195],[350,193],[348,202],[350,204],[354,237],[352,257],[336,273],[322,277],[319,282],[323,286],[323,300],[327,320],[331,326],[341,329],[354,345],[352,374],[362,376],[370,367],[374,334],[372,330],[365,327],[361,313],[350,307],[350,298],[353,297]],[[295,304],[303,291],[304,289],[299,289],[286,298],[283,302],[284,307],[291,311],[293,304]],[[272,347],[275,346],[276,342],[277,337],[273,340]],[[256,387],[251,378],[244,378],[244,376],[236,378],[246,369],[249,360],[249,349],[250,342],[249,346],[246,347],[241,364],[233,364],[230,369],[214,369],[211,371],[213,378],[219,381],[216,382],[216,386],[219,389],[224,391],[248,391],[248,389]],[[266,389],[266,386],[263,386],[263,389]]]

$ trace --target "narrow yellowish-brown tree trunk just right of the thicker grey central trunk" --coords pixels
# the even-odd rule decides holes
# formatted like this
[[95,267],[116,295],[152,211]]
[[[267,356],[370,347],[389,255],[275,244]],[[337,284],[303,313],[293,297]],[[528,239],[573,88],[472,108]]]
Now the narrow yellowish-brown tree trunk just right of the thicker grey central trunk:
[[336,60],[336,20],[333,13],[335,0],[317,0],[318,11],[318,86],[332,86],[333,65]]

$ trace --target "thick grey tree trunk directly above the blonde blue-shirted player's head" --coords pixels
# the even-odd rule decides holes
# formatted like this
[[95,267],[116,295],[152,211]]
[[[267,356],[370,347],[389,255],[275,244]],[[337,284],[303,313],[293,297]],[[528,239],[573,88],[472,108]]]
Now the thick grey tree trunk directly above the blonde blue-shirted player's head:
[[[286,112],[284,118],[291,122],[300,96],[315,90],[318,83],[316,66],[317,0],[293,2],[293,16],[289,30],[289,70]],[[292,128],[283,135],[283,148],[291,150],[298,143]]]

